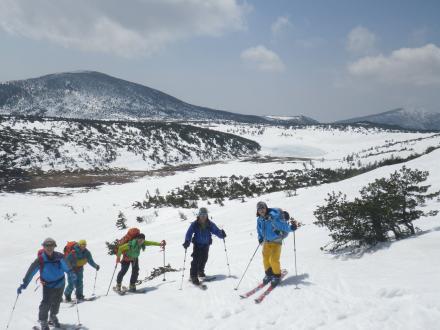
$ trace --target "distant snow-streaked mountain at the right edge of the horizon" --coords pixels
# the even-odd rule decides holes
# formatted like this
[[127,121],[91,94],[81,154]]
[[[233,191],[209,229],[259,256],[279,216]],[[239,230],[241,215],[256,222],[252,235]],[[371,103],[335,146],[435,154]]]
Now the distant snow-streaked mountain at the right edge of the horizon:
[[440,112],[399,108],[375,115],[341,120],[337,123],[359,122],[399,126],[407,129],[440,130]]

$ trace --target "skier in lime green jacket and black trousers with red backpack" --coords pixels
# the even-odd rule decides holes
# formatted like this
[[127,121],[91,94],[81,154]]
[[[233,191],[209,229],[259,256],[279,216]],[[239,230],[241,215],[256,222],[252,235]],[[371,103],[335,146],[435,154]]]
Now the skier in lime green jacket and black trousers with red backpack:
[[122,292],[122,280],[131,265],[129,291],[136,292],[136,282],[139,276],[139,255],[141,251],[144,251],[146,246],[160,246],[162,249],[164,249],[165,245],[166,242],[164,240],[162,240],[160,243],[146,241],[145,235],[140,233],[139,229],[130,229],[127,235],[118,243],[116,264],[121,264],[121,270],[116,278],[116,287],[114,288],[115,291]]

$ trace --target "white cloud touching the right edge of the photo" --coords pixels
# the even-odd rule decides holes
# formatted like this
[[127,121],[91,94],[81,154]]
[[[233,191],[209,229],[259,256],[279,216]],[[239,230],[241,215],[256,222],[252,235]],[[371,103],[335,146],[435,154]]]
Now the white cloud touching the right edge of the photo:
[[440,48],[428,44],[420,48],[402,48],[389,56],[367,56],[348,66],[357,77],[385,83],[417,86],[440,84]]

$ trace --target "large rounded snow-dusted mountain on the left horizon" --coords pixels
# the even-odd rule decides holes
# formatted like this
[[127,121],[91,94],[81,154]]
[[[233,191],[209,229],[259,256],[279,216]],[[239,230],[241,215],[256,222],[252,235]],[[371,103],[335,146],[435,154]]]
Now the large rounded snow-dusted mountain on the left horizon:
[[93,71],[2,83],[0,114],[98,120],[274,122],[260,116],[191,105],[158,90]]

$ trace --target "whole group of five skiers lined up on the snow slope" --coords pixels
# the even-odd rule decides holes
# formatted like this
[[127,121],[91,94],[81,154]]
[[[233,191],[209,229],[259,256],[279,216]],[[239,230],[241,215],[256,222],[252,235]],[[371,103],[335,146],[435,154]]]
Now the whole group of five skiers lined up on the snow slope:
[[[278,208],[269,208],[265,202],[257,204],[257,233],[259,244],[263,244],[263,266],[265,276],[263,283],[278,285],[281,279],[280,256],[282,241],[289,232],[298,228],[298,223],[290,220],[286,211]],[[200,285],[199,278],[206,277],[205,265],[208,261],[209,247],[212,244],[212,234],[220,239],[226,238],[226,232],[219,229],[217,225],[209,220],[208,210],[200,208],[197,219],[193,221],[182,244],[187,250],[191,242],[193,252],[190,279],[195,285]],[[68,242],[64,248],[64,254],[56,252],[57,244],[54,239],[46,238],[42,243],[42,249],[38,251],[37,258],[29,267],[23,283],[18,287],[17,294],[31,282],[34,275],[40,272],[40,282],[43,287],[43,299],[40,303],[38,320],[42,330],[48,330],[49,324],[60,327],[57,314],[63,298],[67,302],[72,301],[72,292],[75,289],[76,299],[84,299],[83,294],[83,273],[84,265],[89,264],[98,271],[99,265],[93,260],[92,254],[87,249],[86,240]],[[146,241],[145,235],[137,233],[124,244],[120,244],[116,251],[116,265],[121,264],[121,269],[116,278],[116,290],[122,289],[122,280],[131,265],[131,277],[129,291],[136,291],[136,282],[139,275],[139,255],[146,246],[160,246],[165,248],[166,242]],[[122,258],[121,258],[122,257]],[[116,270],[116,268],[115,268]],[[68,284],[65,287],[65,276],[67,274]]]

